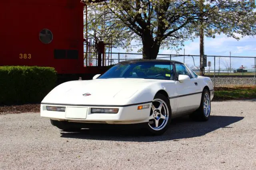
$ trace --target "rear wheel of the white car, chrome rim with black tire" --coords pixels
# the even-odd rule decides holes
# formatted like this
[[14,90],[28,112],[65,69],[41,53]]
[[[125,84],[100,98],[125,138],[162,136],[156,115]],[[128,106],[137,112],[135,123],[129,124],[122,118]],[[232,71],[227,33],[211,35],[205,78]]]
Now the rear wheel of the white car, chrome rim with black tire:
[[[205,105],[208,103],[208,105]],[[211,113],[211,99],[210,99],[210,92],[208,89],[204,89],[202,92],[202,97],[201,97],[201,103],[200,107],[191,115],[189,115],[190,119],[194,121],[208,121],[210,118],[210,113]]]

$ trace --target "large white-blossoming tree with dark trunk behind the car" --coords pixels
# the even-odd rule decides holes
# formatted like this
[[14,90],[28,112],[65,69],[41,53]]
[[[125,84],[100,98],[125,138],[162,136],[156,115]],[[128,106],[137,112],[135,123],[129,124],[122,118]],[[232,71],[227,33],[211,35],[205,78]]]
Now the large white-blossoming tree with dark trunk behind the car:
[[221,33],[237,40],[254,36],[254,8],[254,0],[106,0],[94,6],[107,12],[110,30],[124,29],[115,36],[141,40],[144,59],[155,59],[160,47],[177,48],[193,40],[200,28],[212,38]]

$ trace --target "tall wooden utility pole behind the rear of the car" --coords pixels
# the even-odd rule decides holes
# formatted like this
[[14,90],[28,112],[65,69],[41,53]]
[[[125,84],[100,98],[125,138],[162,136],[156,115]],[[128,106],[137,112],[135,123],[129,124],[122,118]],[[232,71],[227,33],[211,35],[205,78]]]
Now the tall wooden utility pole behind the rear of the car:
[[200,12],[201,12],[201,16],[200,16],[200,22],[201,22],[201,26],[200,26],[200,75],[204,76],[204,28],[203,28],[203,1],[200,0]]

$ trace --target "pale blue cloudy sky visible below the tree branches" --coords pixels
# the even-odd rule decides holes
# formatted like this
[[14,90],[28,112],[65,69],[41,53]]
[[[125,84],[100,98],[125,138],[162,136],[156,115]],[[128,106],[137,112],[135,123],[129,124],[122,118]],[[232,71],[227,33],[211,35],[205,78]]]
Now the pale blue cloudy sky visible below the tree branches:
[[[178,53],[183,54],[185,48],[185,54],[188,55],[199,55],[199,38],[196,38],[194,41],[185,42],[185,46],[182,47],[182,50]],[[135,45],[135,43],[132,43]],[[139,49],[135,48],[129,53],[137,53]],[[112,49],[113,52],[126,52],[123,49]],[[248,69],[252,69],[254,65],[254,58],[246,57],[256,57],[256,37],[246,36],[241,38],[239,41],[234,38],[228,38],[226,35],[218,35],[216,38],[205,38],[204,40],[204,53],[206,55],[224,55],[229,56],[231,51],[231,56],[242,56],[244,58],[232,58],[231,64],[234,69],[239,68],[241,65],[246,66]],[[160,54],[176,54],[175,50],[162,49],[159,51]],[[141,56],[137,56],[141,58]],[[183,62],[183,57],[176,58],[178,61]],[[199,64],[199,58],[194,57],[196,66]],[[212,61],[212,67],[214,69],[214,57],[208,57],[208,61]],[[188,57],[185,60],[187,65],[193,66],[194,62],[192,57]],[[216,58],[216,69],[219,67],[218,59]],[[229,57],[220,58],[220,68],[225,69],[225,65],[230,65]]]

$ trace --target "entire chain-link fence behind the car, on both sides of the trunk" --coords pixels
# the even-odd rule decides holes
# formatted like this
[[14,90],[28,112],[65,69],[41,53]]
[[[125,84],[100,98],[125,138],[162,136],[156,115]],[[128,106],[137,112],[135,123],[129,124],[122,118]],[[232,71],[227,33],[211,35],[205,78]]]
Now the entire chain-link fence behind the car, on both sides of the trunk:
[[[104,65],[114,65],[121,61],[142,59],[140,53],[106,53]],[[200,74],[200,55],[158,54],[157,59],[167,59],[185,63]],[[87,66],[97,65],[97,57],[88,59]],[[256,86],[256,57],[207,55],[204,76],[210,77],[215,87],[227,85]]]

